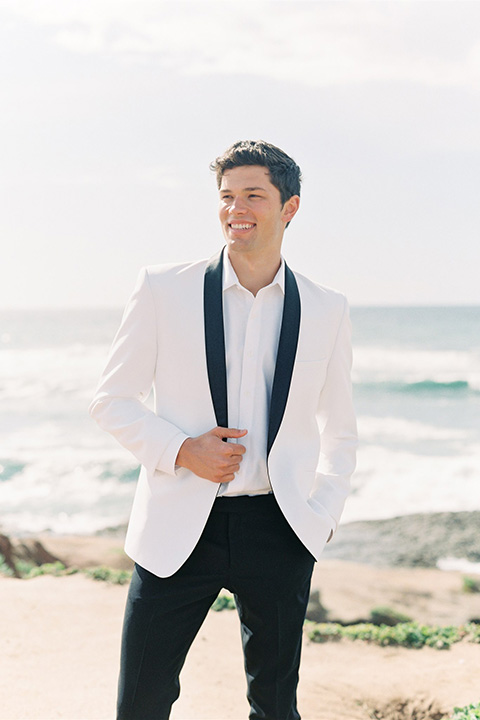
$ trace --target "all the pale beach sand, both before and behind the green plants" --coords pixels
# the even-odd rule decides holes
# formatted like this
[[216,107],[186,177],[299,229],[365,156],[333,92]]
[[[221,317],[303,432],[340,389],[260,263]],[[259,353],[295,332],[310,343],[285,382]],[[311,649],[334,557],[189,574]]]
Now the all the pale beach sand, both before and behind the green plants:
[[[131,565],[118,536],[41,540],[69,565]],[[480,615],[479,596],[462,590],[462,577],[325,559],[313,587],[332,620],[366,619],[381,604],[446,625]],[[127,586],[83,574],[0,578],[0,720],[114,717],[126,593]],[[479,675],[480,646],[467,642],[439,651],[305,638],[299,707],[304,720],[440,720],[455,705],[479,701]],[[184,668],[172,720],[245,719],[244,695],[236,613],[210,612]]]

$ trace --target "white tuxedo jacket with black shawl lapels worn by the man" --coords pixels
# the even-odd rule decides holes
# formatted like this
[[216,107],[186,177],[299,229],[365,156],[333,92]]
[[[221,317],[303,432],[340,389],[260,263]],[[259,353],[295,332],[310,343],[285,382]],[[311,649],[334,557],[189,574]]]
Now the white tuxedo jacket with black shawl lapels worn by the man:
[[[125,550],[167,577],[187,559],[219,485],[175,468],[180,445],[228,427],[222,254],[140,273],[90,412],[142,468]],[[343,295],[285,267],[267,468],[276,500],[316,558],[355,467],[351,342]],[[154,388],[154,411],[145,407]]]

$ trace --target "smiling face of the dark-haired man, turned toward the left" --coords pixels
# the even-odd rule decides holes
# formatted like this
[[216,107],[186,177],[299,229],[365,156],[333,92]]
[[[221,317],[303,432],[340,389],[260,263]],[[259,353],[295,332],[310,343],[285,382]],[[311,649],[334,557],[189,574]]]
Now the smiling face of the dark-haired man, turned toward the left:
[[219,192],[219,217],[229,252],[259,257],[279,253],[285,225],[298,208],[297,196],[282,205],[280,190],[260,165],[226,170]]

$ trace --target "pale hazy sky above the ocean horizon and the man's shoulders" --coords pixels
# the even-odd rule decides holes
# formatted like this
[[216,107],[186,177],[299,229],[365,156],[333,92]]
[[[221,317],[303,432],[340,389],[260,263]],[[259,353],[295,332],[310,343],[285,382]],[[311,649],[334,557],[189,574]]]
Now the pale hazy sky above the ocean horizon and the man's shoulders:
[[209,163],[302,168],[290,266],[480,304],[480,2],[0,0],[0,308],[121,307],[223,244]]

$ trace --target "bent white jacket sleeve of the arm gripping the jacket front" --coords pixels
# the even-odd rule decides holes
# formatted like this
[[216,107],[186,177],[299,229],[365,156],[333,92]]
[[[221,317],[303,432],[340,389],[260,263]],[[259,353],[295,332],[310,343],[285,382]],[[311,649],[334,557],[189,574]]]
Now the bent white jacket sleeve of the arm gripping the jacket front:
[[90,405],[99,426],[130,450],[148,473],[175,474],[175,460],[188,437],[145,406],[157,360],[155,305],[144,268],[114,339]]

